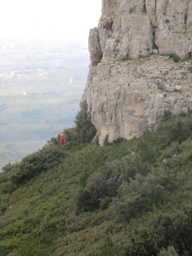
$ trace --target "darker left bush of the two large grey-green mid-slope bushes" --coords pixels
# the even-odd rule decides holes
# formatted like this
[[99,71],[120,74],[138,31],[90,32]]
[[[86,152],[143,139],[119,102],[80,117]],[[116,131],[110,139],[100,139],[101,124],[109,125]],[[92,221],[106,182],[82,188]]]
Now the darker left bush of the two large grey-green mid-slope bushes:
[[93,211],[107,208],[123,181],[129,182],[137,172],[143,172],[138,155],[127,155],[121,160],[111,160],[93,173],[81,187],[76,197],[76,211]]

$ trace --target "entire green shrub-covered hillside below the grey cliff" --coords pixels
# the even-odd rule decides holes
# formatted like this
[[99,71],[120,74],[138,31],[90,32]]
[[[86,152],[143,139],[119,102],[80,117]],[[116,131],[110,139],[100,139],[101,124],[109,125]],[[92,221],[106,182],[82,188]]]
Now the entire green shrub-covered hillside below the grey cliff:
[[191,255],[192,115],[101,147],[86,110],[69,142],[3,168],[0,255]]

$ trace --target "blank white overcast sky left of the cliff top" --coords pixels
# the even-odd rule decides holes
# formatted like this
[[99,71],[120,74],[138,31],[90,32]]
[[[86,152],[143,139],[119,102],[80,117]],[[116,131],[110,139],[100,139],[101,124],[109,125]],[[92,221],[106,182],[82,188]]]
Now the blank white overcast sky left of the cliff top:
[[2,0],[0,37],[86,40],[102,0]]

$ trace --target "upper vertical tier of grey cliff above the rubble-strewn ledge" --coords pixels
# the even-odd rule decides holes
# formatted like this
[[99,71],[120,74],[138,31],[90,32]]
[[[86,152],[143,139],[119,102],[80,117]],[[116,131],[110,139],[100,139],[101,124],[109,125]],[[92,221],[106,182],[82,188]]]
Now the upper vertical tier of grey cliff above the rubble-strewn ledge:
[[102,6],[98,29],[104,58],[137,58],[154,47],[160,54],[191,55],[190,0],[103,0]]

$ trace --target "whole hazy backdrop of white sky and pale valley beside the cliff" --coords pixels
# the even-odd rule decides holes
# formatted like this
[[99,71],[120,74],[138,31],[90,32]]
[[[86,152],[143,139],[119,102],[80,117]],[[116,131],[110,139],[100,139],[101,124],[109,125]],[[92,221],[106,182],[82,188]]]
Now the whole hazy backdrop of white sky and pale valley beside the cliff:
[[2,3],[0,169],[73,125],[100,12],[101,3],[87,0]]

